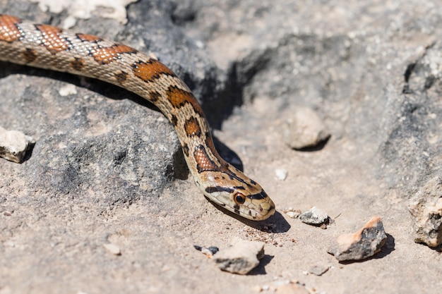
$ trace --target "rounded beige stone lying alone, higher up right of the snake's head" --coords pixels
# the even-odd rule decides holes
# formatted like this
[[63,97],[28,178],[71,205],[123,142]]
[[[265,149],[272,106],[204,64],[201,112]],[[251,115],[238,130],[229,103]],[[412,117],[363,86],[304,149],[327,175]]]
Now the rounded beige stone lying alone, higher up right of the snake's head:
[[293,149],[315,147],[330,137],[318,114],[306,107],[297,109],[287,119],[283,135],[285,143]]

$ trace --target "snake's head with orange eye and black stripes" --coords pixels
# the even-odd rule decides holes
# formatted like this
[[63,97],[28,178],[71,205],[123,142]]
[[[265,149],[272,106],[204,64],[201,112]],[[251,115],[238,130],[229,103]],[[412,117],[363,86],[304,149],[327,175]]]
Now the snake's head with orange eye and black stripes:
[[221,173],[206,172],[196,183],[206,197],[246,219],[262,221],[275,213],[275,204],[261,185],[229,164]]

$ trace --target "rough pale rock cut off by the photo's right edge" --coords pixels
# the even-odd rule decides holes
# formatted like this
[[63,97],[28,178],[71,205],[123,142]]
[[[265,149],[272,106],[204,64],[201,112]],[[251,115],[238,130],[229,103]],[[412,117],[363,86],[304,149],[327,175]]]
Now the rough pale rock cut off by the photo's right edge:
[[442,244],[442,177],[429,180],[410,199],[414,242],[430,247]]

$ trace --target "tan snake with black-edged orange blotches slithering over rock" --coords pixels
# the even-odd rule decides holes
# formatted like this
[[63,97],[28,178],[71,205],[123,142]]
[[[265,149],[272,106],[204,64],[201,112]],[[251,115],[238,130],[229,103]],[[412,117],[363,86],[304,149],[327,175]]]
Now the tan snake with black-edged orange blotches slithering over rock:
[[261,185],[220,157],[189,87],[153,54],[95,35],[0,14],[0,60],[82,75],[123,87],[157,106],[177,133],[203,195],[234,215],[261,221],[275,204]]

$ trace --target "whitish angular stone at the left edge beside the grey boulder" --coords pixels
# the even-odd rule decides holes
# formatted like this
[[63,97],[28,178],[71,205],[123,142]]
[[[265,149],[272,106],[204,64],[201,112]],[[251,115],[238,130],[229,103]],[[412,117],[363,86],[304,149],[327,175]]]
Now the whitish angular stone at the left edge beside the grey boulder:
[[0,127],[0,157],[20,164],[33,144],[35,141],[32,137],[18,130],[5,130]]

